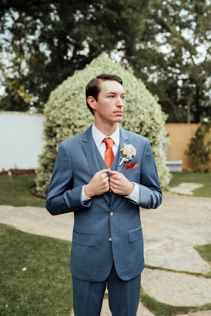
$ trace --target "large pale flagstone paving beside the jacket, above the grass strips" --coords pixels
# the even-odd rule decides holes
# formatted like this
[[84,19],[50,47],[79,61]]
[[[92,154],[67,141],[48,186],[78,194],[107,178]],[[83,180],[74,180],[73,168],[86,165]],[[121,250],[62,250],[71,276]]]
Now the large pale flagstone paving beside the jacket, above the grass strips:
[[164,195],[156,210],[141,210],[145,263],[207,273],[210,264],[194,246],[211,242],[211,199]]

